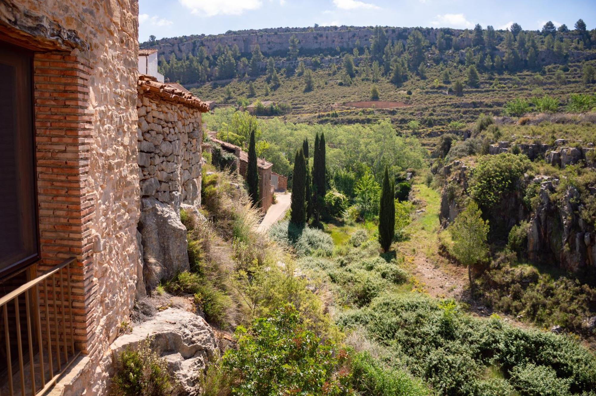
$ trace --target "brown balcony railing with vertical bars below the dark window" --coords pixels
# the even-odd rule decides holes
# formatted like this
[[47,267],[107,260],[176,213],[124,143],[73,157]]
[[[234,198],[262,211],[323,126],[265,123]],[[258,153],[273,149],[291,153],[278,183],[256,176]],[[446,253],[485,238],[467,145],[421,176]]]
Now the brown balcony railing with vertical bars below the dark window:
[[44,394],[79,355],[70,284],[75,262],[67,259],[0,298],[7,360],[0,396]]

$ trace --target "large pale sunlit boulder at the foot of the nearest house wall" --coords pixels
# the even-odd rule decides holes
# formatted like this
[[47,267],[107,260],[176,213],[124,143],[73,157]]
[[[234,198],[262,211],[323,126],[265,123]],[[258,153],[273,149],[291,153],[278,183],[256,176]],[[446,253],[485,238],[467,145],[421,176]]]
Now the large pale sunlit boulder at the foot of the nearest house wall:
[[112,361],[127,347],[135,348],[148,337],[152,349],[167,361],[190,395],[198,394],[198,379],[207,362],[219,353],[213,329],[199,315],[178,308],[168,308],[154,318],[133,327],[131,334],[122,335],[111,345]]

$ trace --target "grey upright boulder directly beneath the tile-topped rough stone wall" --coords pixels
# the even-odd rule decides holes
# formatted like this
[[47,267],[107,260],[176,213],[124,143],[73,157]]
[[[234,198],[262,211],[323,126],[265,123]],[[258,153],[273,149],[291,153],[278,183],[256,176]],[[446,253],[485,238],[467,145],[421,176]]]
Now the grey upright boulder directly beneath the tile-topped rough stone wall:
[[150,258],[155,259],[163,268],[162,278],[170,279],[176,273],[190,269],[187,229],[180,221],[179,210],[175,211],[173,206],[156,198],[143,198],[139,232],[145,265]]

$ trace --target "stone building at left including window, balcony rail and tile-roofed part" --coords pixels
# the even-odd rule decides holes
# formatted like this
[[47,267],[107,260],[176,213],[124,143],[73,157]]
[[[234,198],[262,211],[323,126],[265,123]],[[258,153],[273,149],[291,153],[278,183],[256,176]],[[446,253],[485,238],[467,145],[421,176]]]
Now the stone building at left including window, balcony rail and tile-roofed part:
[[105,394],[144,246],[185,249],[143,237],[200,203],[208,107],[138,66],[136,0],[0,2],[2,395]]

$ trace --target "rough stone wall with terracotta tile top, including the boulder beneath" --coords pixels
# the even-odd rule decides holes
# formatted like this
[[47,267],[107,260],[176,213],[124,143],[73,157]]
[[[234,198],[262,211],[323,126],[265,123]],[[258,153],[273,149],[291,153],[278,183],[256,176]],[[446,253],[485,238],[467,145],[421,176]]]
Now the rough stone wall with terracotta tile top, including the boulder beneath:
[[169,280],[190,269],[180,209],[182,204],[201,203],[201,112],[209,107],[150,76],[139,76],[136,107],[141,188],[138,230],[147,274],[144,286],[151,290],[160,279]]

